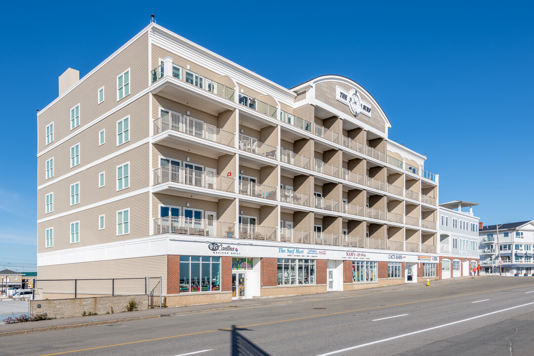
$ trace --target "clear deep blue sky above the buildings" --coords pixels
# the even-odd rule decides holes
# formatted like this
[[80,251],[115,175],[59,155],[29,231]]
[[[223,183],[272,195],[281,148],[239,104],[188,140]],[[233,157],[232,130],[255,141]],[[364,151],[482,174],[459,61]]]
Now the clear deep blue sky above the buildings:
[[441,202],[480,203],[485,225],[534,219],[532,2],[48,4],[2,6],[0,268],[35,270],[36,109],[67,67],[87,74],[151,13],[286,88],[355,80],[388,115],[389,138],[427,154]]

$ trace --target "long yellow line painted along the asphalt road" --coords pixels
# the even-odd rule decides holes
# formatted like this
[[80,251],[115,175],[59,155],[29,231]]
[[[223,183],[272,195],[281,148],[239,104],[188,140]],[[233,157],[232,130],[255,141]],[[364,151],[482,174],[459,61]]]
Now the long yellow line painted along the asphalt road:
[[460,294],[460,295],[457,295],[457,296],[440,297],[440,298],[424,299],[424,300],[415,300],[414,302],[406,302],[406,303],[400,303],[400,304],[383,305],[383,306],[374,306],[374,307],[372,307],[372,308],[357,309],[357,310],[349,310],[349,311],[344,311],[344,312],[328,313],[328,314],[321,314],[321,315],[311,315],[310,317],[302,317],[302,318],[286,319],[286,320],[278,320],[278,321],[269,321],[269,322],[263,322],[263,323],[259,323],[259,324],[253,324],[253,325],[246,325],[246,326],[239,326],[239,327],[236,326],[236,327],[233,327],[233,328],[226,328],[226,329],[216,329],[216,330],[199,331],[198,333],[191,333],[191,334],[182,334],[182,335],[174,335],[174,336],[158,337],[158,338],[155,338],[155,339],[147,339],[147,340],[131,341],[131,342],[128,342],[128,343],[122,343],[122,344],[114,344],[114,345],[107,345],[107,346],[90,347],[89,349],[80,349],[80,350],[72,350],[72,351],[63,351],[63,352],[58,352],[58,353],[49,353],[49,354],[41,355],[41,356],[53,356],[53,355],[61,355],[61,354],[72,353],[72,352],[80,352],[80,351],[88,351],[88,350],[105,349],[106,347],[114,347],[114,346],[131,345],[131,344],[137,344],[137,343],[145,343],[145,342],[149,342],[149,341],[164,340],[164,339],[170,339],[170,338],[175,338],[175,337],[183,337],[183,336],[191,336],[191,335],[200,335],[200,334],[214,333],[215,331],[232,330],[232,329],[239,329],[239,328],[248,328],[248,327],[252,327],[252,326],[260,326],[260,325],[276,324],[276,323],[286,322],[286,321],[295,321],[295,320],[303,320],[303,319],[311,319],[311,318],[328,317],[328,316],[330,316],[330,315],[345,314],[345,313],[354,313],[354,312],[362,312],[362,311],[366,311],[366,310],[381,309],[381,308],[389,308],[389,307],[392,307],[392,306],[407,305],[407,304],[414,304],[414,303],[432,302],[433,300],[441,300],[441,299],[450,299],[450,298],[458,298],[458,297],[472,296],[472,295],[477,295],[477,294],[490,293],[490,292],[498,292],[498,291],[501,291],[501,290],[508,290],[508,289],[515,289],[515,288],[523,288],[523,287],[530,287],[530,286],[534,286],[534,284],[526,284],[525,286],[517,286],[517,287],[510,287],[510,288],[502,288],[502,289],[486,290],[486,291],[483,291],[483,292],[476,292],[476,293],[469,293],[469,294]]

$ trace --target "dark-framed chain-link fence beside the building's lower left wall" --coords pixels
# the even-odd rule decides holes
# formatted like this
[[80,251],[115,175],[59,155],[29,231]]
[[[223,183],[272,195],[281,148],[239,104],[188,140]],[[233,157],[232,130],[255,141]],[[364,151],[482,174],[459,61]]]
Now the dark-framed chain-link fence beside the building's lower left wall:
[[[34,300],[148,295],[150,306],[161,305],[161,277],[36,280]],[[151,301],[152,299],[152,301]]]

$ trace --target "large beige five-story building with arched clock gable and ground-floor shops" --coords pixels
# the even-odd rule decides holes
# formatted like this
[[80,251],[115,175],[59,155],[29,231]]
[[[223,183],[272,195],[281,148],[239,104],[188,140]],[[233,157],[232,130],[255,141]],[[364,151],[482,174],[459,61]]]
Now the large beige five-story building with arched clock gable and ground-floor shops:
[[286,89],[155,23],[61,81],[40,279],[162,276],[178,305],[436,278],[438,177],[358,83]]

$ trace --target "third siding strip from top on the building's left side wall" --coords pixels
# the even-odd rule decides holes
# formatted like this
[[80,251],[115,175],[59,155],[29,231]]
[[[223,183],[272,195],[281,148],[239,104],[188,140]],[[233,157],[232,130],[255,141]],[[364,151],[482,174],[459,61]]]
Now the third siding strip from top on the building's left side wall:
[[[59,213],[85,207],[87,205],[111,199],[114,196],[128,194],[150,185],[148,174],[148,143],[115,156],[103,163],[76,173],[72,177],[61,179],[48,187],[37,191],[37,219],[53,217]],[[117,165],[129,164],[129,188],[117,191]],[[105,172],[104,187],[98,187],[99,173]],[[70,205],[70,185],[80,182],[80,203]],[[45,213],[46,194],[54,193],[53,212]]]

